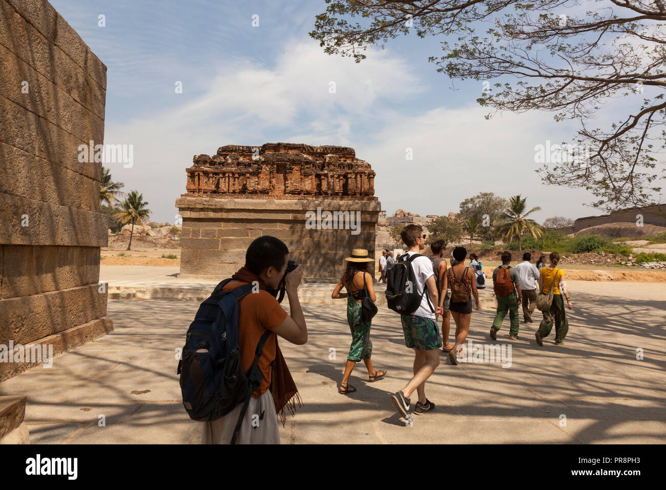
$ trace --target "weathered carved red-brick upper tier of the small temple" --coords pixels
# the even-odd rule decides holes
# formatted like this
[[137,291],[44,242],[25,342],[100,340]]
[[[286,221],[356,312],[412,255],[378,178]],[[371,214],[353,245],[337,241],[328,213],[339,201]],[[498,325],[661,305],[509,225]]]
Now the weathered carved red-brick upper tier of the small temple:
[[183,196],[376,201],[375,172],[353,148],[296,143],[226,145],[212,157],[194,155]]

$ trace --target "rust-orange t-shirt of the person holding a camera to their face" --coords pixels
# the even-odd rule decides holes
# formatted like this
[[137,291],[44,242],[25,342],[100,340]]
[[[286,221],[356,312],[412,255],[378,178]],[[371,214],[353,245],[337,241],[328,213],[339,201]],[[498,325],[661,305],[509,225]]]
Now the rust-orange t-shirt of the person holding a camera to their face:
[[[247,283],[236,283],[226,285],[222,291],[230,291],[235,287]],[[266,330],[272,330],[287,317],[287,312],[282,309],[278,300],[268,291],[260,289],[256,293],[249,293],[240,300],[238,313],[238,345],[240,345],[240,363],[243,371],[247,371],[254,361],[254,353],[259,339]],[[270,387],[270,376],[272,374],[272,363],[275,359],[276,339],[274,333],[269,333],[264,344],[264,351],[259,358],[259,369],[261,370],[261,386],[252,393],[252,397],[266,393]]]

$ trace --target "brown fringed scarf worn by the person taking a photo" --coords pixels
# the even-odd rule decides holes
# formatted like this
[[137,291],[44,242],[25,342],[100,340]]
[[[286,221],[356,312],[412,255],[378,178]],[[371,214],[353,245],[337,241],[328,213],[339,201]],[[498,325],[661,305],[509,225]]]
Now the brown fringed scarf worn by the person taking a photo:
[[[236,279],[236,281],[242,281],[248,284],[252,284],[254,281],[257,281],[259,284],[259,289],[268,291],[263,279],[245,267],[241,267],[238,272],[231,276],[231,279]],[[275,411],[278,414],[278,417],[280,417],[282,427],[284,427],[286,423],[286,413],[284,409],[286,408],[289,413],[294,415],[294,413],[296,413],[296,403],[298,403],[298,407],[302,407],[303,402],[300,399],[298,389],[296,388],[296,383],[294,383],[294,379],[289,372],[287,363],[284,361],[282,351],[280,351],[277,335],[275,335],[275,360],[272,362],[272,365],[273,369],[272,375],[270,377],[270,394],[273,397]]]

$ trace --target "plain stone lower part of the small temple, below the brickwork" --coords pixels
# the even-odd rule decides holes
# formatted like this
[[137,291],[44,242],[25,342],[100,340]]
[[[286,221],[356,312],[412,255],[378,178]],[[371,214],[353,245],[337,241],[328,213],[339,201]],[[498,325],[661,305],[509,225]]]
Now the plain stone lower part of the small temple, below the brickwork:
[[[176,200],[182,216],[180,277],[222,280],[245,263],[255,238],[272,235],[289,248],[289,257],[304,267],[303,277],[336,282],[344,272],[344,257],[352,249],[367,249],[374,258],[379,201],[348,199],[228,199],[183,196]],[[317,208],[321,221],[317,225]],[[308,213],[312,211],[312,213]],[[356,227],[347,211],[360,216],[354,229],[334,226],[326,213],[338,211],[338,228]],[[358,211],[357,214],[356,212]],[[308,223],[308,217],[314,217]],[[340,219],[342,217],[342,219]]]

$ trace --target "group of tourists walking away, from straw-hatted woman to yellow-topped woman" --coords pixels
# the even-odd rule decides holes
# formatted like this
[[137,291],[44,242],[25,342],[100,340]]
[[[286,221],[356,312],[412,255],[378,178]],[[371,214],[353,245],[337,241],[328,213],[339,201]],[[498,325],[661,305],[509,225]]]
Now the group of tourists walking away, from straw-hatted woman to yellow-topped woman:
[[[392,263],[392,267],[404,265],[406,269],[410,269],[412,275],[408,277],[414,279],[412,294],[418,298],[413,311],[400,314],[405,345],[414,351],[414,376],[402,389],[391,395],[400,414],[406,417],[410,413],[415,391],[417,400],[411,413],[422,415],[434,409],[435,404],[426,397],[426,381],[440,364],[440,349],[448,355],[452,365],[458,365],[461,348],[470,331],[473,304],[476,305],[474,309],[480,309],[478,289],[486,287],[486,275],[482,271],[478,255],[471,253],[470,262],[466,265],[468,253],[464,247],[455,247],[447,261],[444,257],[445,243],[442,240],[430,243],[432,255],[421,255],[420,252],[426,248],[427,236],[423,234],[420,225],[407,225],[400,237],[407,251]],[[389,256],[388,251],[382,252],[379,271],[380,282],[388,283],[386,297],[391,308],[392,295],[395,295],[394,290],[399,287],[392,284],[390,275],[386,273],[386,257]],[[372,365],[372,315],[364,312],[364,303],[376,301],[369,267],[374,260],[368,257],[368,251],[364,249],[354,249],[352,256],[345,260],[346,271],[336,285],[332,297],[347,298],[347,321],[352,333],[352,345],[342,382],[338,387],[339,393],[347,395],[356,391],[356,387],[348,381],[354,365],[361,359],[368,369],[368,381],[371,383],[386,377],[386,369],[375,369]],[[502,263],[492,274],[498,307],[490,327],[491,339],[497,339],[502,321],[508,313],[509,339],[518,340],[519,306],[522,305],[523,321],[533,323],[537,297],[543,295],[544,301],[550,300],[550,307],[542,309],[543,319],[535,333],[537,344],[543,346],[543,339],[549,335],[553,324],[555,344],[563,343],[568,331],[564,299],[569,309],[573,308],[573,304],[563,281],[564,273],[557,267],[559,254],[550,254],[549,265],[545,265],[544,261],[545,256],[541,255],[537,265],[534,265],[531,263],[531,254],[526,252],[523,253],[523,261],[516,267],[511,267],[511,253],[501,254]],[[407,281],[410,282],[411,279]],[[346,289],[348,293],[342,293],[342,289]],[[440,316],[441,335],[438,326]],[[453,345],[450,343],[451,317],[456,323]]]

